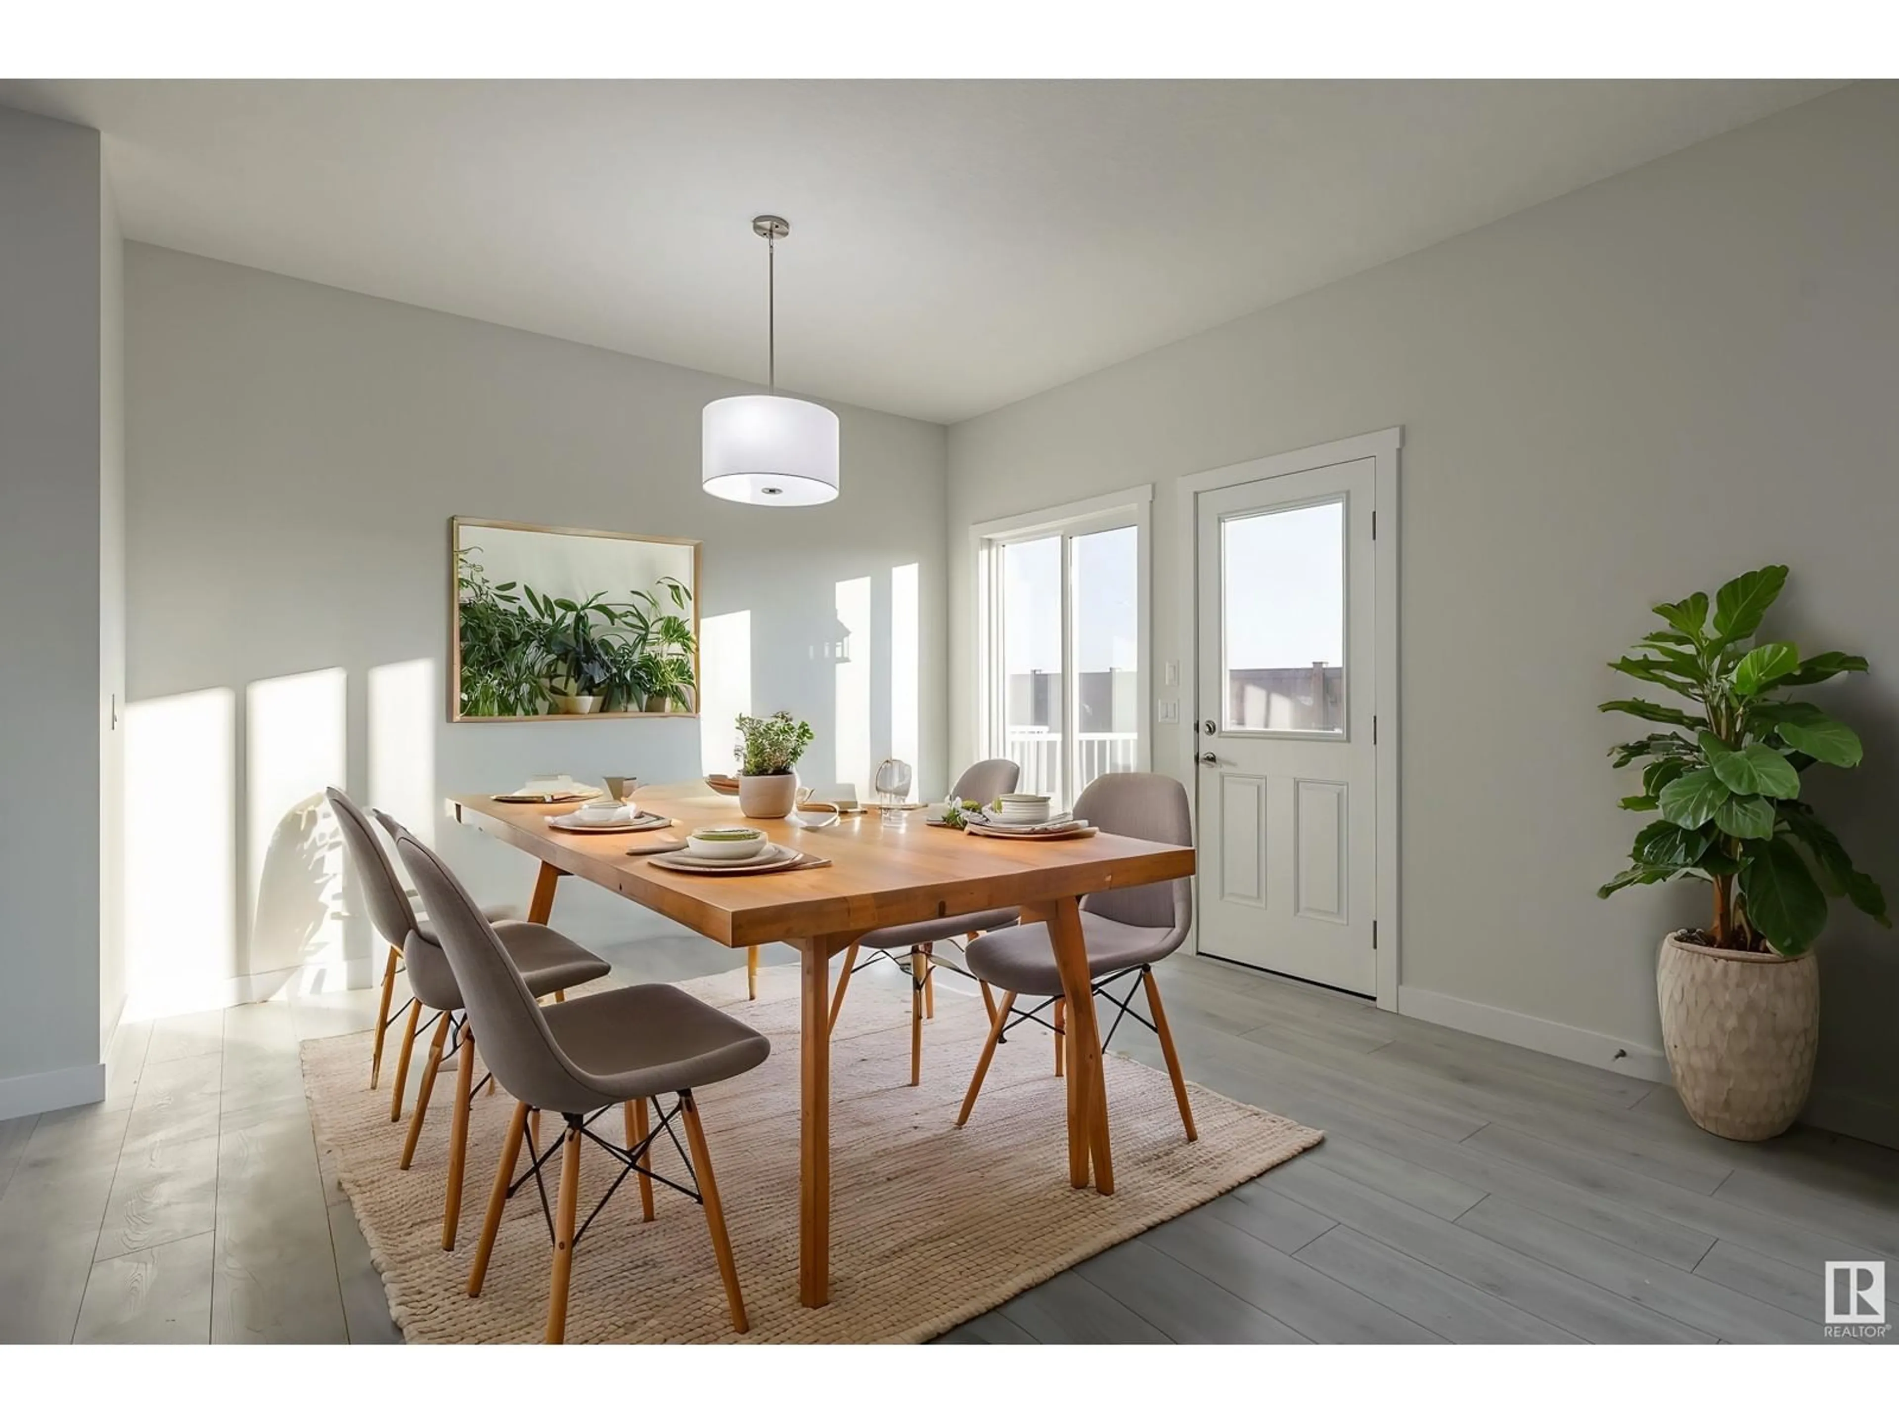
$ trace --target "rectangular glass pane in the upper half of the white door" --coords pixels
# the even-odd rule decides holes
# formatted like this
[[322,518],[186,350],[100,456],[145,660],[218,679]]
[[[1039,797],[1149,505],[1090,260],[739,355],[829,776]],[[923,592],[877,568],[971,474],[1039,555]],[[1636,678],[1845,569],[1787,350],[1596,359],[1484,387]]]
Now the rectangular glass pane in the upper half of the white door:
[[1344,731],[1344,501],[1221,522],[1227,731]]

